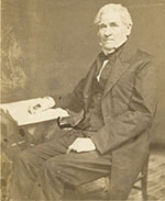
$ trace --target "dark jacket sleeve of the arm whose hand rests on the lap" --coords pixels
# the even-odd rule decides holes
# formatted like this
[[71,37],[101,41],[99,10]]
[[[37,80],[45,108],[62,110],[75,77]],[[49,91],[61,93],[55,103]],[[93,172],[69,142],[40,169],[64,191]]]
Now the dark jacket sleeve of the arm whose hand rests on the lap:
[[145,62],[135,77],[128,111],[117,118],[106,118],[105,126],[90,136],[101,154],[118,148],[151,126],[157,103],[155,80],[154,66]]

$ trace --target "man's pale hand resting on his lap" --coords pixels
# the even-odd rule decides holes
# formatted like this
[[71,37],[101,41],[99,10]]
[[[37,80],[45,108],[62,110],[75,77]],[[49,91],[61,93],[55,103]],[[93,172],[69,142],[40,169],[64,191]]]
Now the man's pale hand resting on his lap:
[[95,144],[88,137],[77,137],[68,148],[77,153],[96,150]]

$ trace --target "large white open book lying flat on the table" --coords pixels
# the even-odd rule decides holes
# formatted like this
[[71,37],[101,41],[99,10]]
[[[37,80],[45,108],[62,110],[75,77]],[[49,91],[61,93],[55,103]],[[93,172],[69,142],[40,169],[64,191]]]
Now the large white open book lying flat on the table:
[[56,108],[47,109],[36,114],[29,112],[29,105],[35,104],[37,99],[23,100],[18,102],[0,104],[0,109],[8,111],[9,114],[18,122],[18,125],[33,124],[44,121],[54,120],[57,118],[69,116],[67,111]]

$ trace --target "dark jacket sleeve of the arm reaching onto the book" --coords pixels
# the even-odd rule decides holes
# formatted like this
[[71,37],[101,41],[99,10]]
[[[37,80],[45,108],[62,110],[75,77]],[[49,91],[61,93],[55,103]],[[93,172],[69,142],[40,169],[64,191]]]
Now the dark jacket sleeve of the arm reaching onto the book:
[[86,78],[81,79],[72,93],[54,96],[53,99],[56,102],[55,107],[79,112],[84,108],[82,90]]

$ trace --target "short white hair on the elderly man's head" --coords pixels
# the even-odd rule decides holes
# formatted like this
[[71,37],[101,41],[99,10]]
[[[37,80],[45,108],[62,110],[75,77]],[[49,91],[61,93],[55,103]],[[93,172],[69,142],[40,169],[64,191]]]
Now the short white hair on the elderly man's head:
[[100,16],[102,14],[110,13],[110,12],[118,12],[121,16],[121,20],[122,20],[123,24],[125,24],[130,29],[132,27],[133,22],[132,22],[132,19],[131,19],[131,15],[130,15],[128,9],[124,8],[122,4],[117,4],[117,3],[109,3],[109,4],[103,5],[98,11],[94,23],[99,24],[100,23]]

